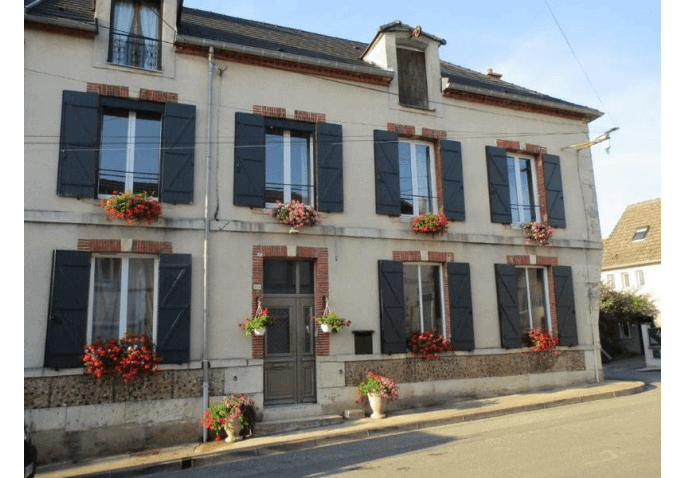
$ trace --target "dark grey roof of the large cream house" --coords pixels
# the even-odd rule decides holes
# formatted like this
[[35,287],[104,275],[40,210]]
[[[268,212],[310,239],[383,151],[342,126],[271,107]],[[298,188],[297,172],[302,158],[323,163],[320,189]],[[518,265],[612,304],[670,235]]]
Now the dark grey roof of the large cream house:
[[[31,3],[35,2],[24,0],[25,6]],[[179,0],[179,3],[183,2]],[[95,22],[93,0],[39,0],[25,13],[29,16],[66,19],[91,25]],[[367,43],[187,7],[182,7],[177,28],[177,41],[181,43],[217,43],[237,51],[263,54],[272,58],[282,55],[283,58],[304,63],[324,62],[334,68],[343,67],[384,77],[391,75],[361,59],[369,46]],[[379,27],[377,34],[393,28],[411,27],[395,21]],[[423,32],[422,34],[425,35]],[[438,37],[431,38],[443,42]],[[589,120],[602,115],[592,108],[496,80],[449,62],[441,61],[441,70],[443,77],[448,81],[446,86],[451,90],[562,108],[582,114]]]

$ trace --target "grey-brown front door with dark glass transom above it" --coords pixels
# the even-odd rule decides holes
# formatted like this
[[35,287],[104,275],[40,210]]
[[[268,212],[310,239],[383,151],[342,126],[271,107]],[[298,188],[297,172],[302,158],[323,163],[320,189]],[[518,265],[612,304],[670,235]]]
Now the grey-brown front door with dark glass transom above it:
[[265,405],[317,401],[313,271],[308,261],[264,263],[263,307],[276,318],[265,336]]

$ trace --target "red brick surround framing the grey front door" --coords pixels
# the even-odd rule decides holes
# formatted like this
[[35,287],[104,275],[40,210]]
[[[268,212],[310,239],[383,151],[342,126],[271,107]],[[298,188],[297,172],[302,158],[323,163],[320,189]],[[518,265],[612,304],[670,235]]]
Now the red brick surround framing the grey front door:
[[[252,251],[252,313],[257,310],[257,301],[264,302],[264,260],[312,260],[314,261],[314,311],[317,317],[324,313],[325,297],[329,296],[329,250],[325,247],[295,247],[295,254],[290,254],[287,246],[253,246]],[[319,357],[329,355],[329,333],[322,332],[317,326],[316,354]],[[253,358],[265,357],[265,337],[252,336]]]

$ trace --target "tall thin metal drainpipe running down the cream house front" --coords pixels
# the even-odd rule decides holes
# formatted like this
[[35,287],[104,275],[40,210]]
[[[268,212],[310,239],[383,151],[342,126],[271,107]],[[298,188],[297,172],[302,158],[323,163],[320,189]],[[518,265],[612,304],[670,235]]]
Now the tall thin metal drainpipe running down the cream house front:
[[[212,159],[212,73],[214,72],[214,47],[207,56],[207,156],[205,158],[205,237],[203,242],[203,309],[202,309],[202,400],[203,408],[210,406],[210,362],[207,360],[207,240],[210,234],[210,162]],[[202,441],[207,442],[207,428],[202,429]]]

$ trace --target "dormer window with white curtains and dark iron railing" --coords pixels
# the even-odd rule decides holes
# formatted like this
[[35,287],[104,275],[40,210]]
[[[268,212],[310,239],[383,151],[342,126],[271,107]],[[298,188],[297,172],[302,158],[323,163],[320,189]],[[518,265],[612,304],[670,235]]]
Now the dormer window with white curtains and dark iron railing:
[[159,1],[113,1],[108,61],[159,70],[160,21]]

